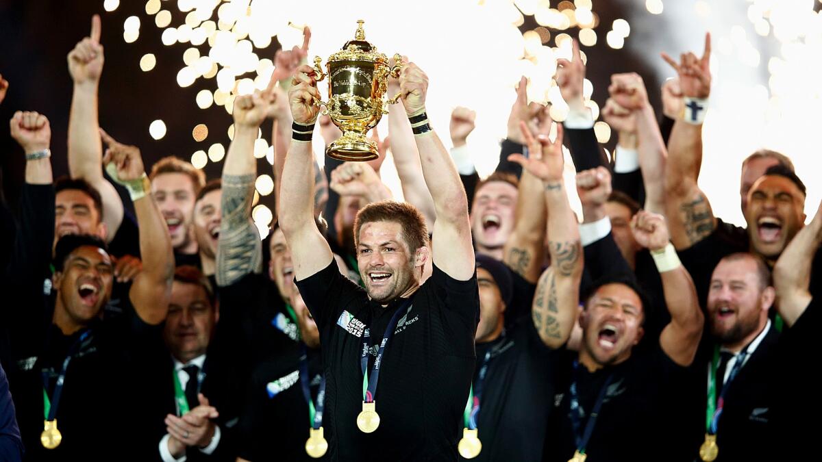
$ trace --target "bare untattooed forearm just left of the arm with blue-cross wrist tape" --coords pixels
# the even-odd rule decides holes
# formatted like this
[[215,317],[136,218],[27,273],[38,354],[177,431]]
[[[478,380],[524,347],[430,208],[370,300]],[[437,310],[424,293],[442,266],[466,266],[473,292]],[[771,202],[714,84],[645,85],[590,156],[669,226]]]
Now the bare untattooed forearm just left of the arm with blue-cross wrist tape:
[[650,105],[636,114],[640,170],[645,185],[645,210],[664,214],[667,150]]

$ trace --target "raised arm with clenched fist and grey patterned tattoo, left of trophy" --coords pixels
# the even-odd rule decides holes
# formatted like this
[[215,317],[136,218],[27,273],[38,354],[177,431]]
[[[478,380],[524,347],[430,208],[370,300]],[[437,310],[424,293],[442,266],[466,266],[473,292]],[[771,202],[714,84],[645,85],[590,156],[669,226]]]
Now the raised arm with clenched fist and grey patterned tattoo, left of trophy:
[[[223,164],[223,189],[217,246],[217,284],[231,285],[243,276],[262,271],[260,233],[252,221],[256,180],[254,141],[271,104],[278,96],[271,88],[234,99],[234,139]],[[284,98],[280,94],[279,98]]]

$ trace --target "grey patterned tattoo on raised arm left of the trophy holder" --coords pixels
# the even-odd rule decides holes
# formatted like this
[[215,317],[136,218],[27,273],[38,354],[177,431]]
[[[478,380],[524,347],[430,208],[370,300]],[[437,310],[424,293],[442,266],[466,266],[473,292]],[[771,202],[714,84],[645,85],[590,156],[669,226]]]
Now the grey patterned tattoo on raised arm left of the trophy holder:
[[260,234],[251,219],[254,175],[223,175],[217,246],[217,285],[231,285],[262,271]]

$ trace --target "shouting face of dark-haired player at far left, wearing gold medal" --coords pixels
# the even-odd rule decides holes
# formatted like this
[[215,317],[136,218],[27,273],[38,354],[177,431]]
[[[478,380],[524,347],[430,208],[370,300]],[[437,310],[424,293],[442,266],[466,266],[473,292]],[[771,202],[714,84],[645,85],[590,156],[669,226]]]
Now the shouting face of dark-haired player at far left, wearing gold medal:
[[111,257],[95,246],[77,247],[66,258],[62,271],[54,274],[58,309],[76,326],[86,326],[99,316],[111,296]]

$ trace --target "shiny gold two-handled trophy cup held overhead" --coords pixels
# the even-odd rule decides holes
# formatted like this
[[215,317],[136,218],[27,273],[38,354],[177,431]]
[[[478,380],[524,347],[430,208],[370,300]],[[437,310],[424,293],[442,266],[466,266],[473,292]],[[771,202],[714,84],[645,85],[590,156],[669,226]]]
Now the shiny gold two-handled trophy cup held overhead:
[[337,141],[326,147],[326,155],[340,160],[371,160],[379,157],[376,142],[366,134],[387,114],[388,104],[396,104],[399,94],[382,99],[388,90],[388,78],[399,77],[403,60],[394,55],[391,67],[385,54],[365,39],[363,22],[357,21],[357,33],[343,49],[332,54],[323,72],[322,59],[314,58],[316,80],[328,76],[328,101],[317,101],[325,106],[322,113],[343,132]]

